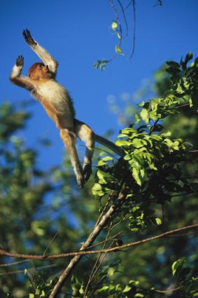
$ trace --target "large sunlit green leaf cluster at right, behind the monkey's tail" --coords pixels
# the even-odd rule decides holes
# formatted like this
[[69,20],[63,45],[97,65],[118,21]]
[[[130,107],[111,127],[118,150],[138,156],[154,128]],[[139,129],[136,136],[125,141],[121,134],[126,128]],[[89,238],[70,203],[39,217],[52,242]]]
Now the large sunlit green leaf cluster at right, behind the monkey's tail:
[[[180,65],[168,62],[171,88],[163,97],[139,104],[136,123],[120,131],[115,144],[122,147],[125,155],[118,161],[105,156],[97,165],[93,194],[101,198],[109,194],[118,197],[123,187],[127,189],[129,226],[133,231],[145,228],[150,222],[160,224],[160,219],[153,217],[153,203],[164,205],[172,197],[191,194],[196,189],[183,172],[183,163],[188,162],[192,145],[164,131],[162,122],[168,116],[177,115],[181,104],[193,109],[198,68],[197,59],[187,67],[191,57],[188,54]],[[179,75],[175,71],[178,67]]]

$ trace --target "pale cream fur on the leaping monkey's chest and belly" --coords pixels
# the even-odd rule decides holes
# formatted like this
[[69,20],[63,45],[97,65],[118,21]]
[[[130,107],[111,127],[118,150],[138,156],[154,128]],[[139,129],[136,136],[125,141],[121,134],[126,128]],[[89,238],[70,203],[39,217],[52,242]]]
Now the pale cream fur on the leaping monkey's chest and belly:
[[57,83],[57,81],[49,80],[39,84],[36,92],[38,93],[38,100],[41,101],[41,104],[45,100],[58,114],[73,114],[74,116],[71,97],[66,88]]

